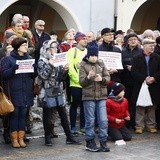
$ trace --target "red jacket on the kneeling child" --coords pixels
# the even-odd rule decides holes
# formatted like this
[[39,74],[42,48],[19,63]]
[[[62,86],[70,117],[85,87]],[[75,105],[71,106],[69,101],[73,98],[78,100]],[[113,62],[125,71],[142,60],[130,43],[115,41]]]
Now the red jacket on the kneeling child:
[[[108,125],[113,128],[122,128],[125,124],[125,117],[130,116],[128,112],[128,100],[123,98],[121,101],[116,101],[113,98],[106,100],[106,111],[108,117]],[[121,119],[121,123],[116,123],[116,118]]]

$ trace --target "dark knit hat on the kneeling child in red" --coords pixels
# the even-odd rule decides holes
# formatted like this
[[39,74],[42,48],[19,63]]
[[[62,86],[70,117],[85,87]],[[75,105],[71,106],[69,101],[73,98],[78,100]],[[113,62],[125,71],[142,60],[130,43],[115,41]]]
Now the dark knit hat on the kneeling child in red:
[[114,96],[117,96],[121,91],[125,89],[124,85],[118,82],[113,83],[111,86],[111,92]]

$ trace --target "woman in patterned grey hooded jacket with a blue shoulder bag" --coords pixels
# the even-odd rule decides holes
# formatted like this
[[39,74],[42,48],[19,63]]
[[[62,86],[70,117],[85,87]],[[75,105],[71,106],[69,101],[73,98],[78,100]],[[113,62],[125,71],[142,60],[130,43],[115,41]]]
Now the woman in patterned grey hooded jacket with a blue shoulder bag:
[[52,134],[54,129],[55,109],[61,118],[61,124],[66,134],[67,144],[79,144],[71,137],[69,121],[65,109],[65,96],[63,91],[63,80],[68,65],[55,67],[54,54],[57,53],[57,41],[47,40],[43,43],[38,61],[38,75],[41,81],[41,92],[39,102],[43,107],[43,126],[45,133],[45,144],[52,146]]

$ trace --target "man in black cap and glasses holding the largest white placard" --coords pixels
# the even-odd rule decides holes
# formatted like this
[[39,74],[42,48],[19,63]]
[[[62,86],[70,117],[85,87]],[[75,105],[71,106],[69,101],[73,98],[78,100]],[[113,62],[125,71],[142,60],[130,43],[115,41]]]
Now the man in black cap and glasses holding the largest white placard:
[[[114,46],[114,33],[113,30],[110,28],[103,28],[101,31],[101,35],[103,38],[103,43],[99,46],[99,51],[106,51],[106,52],[118,52],[121,54],[121,50]],[[110,92],[110,86],[114,82],[120,82],[120,72],[121,70],[119,69],[113,69],[113,68],[108,68],[109,74],[111,76],[111,81],[108,84],[108,93]]]

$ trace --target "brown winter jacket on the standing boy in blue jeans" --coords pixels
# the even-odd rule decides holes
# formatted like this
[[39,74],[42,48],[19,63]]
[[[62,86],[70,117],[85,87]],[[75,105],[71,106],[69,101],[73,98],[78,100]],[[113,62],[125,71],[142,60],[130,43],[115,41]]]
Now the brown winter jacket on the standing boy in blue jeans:
[[[89,71],[94,70],[102,77],[101,82],[87,78]],[[102,60],[90,63],[86,58],[80,64],[79,82],[82,86],[82,100],[102,100],[107,98],[107,83],[110,75]]]

